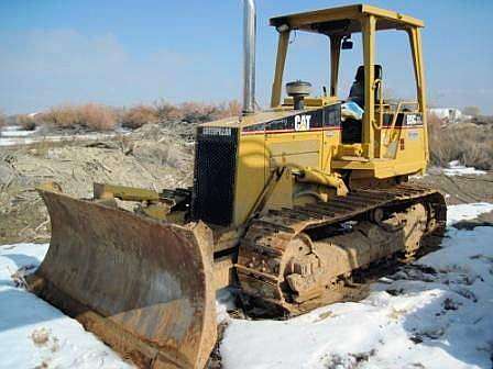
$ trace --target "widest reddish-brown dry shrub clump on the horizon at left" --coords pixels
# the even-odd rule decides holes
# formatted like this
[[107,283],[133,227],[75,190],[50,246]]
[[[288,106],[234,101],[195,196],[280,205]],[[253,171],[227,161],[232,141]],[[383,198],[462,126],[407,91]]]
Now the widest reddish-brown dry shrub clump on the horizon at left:
[[40,121],[58,128],[85,127],[94,131],[109,131],[117,125],[117,114],[106,105],[88,103],[85,105],[59,105],[41,114]]

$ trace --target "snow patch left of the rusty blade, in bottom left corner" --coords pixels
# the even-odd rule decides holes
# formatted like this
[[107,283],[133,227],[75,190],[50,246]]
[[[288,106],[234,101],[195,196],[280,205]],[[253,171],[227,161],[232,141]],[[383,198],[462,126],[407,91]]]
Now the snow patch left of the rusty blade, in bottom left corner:
[[130,368],[95,335],[11,275],[37,267],[48,245],[0,246],[0,368]]

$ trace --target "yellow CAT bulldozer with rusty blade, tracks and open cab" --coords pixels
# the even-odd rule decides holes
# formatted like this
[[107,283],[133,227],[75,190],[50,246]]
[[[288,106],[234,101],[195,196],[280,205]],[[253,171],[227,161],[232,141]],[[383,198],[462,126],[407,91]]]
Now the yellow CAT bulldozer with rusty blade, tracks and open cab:
[[[445,228],[440,192],[409,182],[429,157],[424,22],[366,4],[272,18],[277,56],[271,107],[260,111],[253,0],[243,21],[243,111],[197,127],[190,188],[95,183],[92,199],[39,189],[52,238],[31,289],[139,367],[207,366],[219,289],[302,314],[343,300],[352,276],[412,258]],[[407,36],[415,101],[384,99],[381,31]],[[291,81],[283,98],[298,32],[327,40],[330,86],[313,96],[310,82]],[[363,60],[342,99],[340,56],[359,33]]]

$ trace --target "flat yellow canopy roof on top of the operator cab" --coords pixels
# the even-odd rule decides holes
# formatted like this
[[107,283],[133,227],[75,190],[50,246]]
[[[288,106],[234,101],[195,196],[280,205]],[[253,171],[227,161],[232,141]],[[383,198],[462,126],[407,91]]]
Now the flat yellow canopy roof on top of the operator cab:
[[305,13],[275,16],[271,25],[287,25],[291,30],[346,35],[361,32],[360,20],[365,15],[376,18],[376,30],[399,30],[408,26],[423,27],[425,23],[409,15],[366,4],[315,10]]

